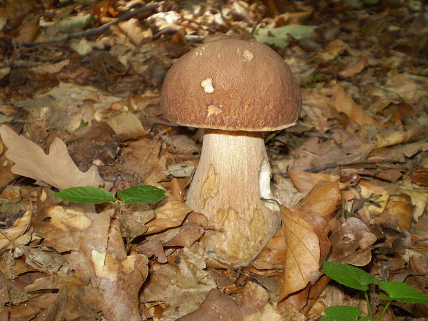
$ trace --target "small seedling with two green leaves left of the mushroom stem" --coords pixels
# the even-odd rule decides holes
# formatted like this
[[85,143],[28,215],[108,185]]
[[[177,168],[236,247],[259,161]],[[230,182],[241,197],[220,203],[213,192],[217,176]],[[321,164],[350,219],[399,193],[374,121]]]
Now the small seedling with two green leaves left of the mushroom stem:
[[115,202],[116,204],[143,204],[161,200],[162,197],[164,197],[165,191],[155,186],[140,185],[126,188],[124,191],[119,191],[118,194],[120,200],[117,200],[112,193],[106,191],[104,188],[81,186],[66,188],[63,191],[52,193],[51,195],[61,200],[84,204],[99,204],[104,202]]

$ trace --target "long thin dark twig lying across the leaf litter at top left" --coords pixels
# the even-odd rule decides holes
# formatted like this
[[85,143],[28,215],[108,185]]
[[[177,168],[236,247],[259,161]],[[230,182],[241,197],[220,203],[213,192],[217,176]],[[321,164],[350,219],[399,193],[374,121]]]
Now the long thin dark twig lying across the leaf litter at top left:
[[62,37],[58,37],[58,38],[54,38],[54,39],[49,39],[49,40],[46,40],[46,41],[21,42],[21,43],[19,43],[19,45],[20,46],[24,46],[24,47],[34,47],[34,46],[40,46],[40,45],[48,45],[50,43],[59,43],[61,41],[66,41],[68,39],[77,39],[77,38],[82,38],[82,37],[97,35],[98,33],[101,33],[101,32],[104,32],[104,31],[110,29],[111,26],[117,25],[117,23],[119,23],[121,21],[126,21],[126,20],[128,20],[128,19],[136,16],[137,14],[153,10],[153,9],[155,9],[157,7],[159,7],[159,3],[153,3],[153,4],[150,4],[148,6],[144,6],[142,8],[138,8],[138,9],[135,9],[135,10],[132,10],[132,11],[128,11],[124,15],[122,15],[120,17],[117,17],[117,19],[115,19],[113,21],[110,21],[110,22],[108,22],[108,23],[106,23],[103,26],[100,26],[98,28],[88,29],[88,30],[81,31],[81,32],[72,32],[72,33],[69,33],[69,34],[64,35]]

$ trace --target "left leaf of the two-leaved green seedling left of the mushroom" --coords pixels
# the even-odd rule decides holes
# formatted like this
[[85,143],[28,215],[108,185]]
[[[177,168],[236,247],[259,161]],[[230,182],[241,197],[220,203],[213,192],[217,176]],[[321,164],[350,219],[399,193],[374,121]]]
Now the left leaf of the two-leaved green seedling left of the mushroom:
[[115,197],[103,188],[94,186],[81,186],[66,188],[61,192],[52,193],[61,200],[75,203],[98,204],[103,202],[114,202]]

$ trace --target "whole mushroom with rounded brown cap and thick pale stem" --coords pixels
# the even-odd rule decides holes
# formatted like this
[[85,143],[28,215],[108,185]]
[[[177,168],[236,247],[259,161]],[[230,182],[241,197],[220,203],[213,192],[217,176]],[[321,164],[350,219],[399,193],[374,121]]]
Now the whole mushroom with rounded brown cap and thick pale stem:
[[164,116],[206,128],[186,204],[213,230],[200,242],[221,262],[247,266],[280,226],[262,132],[293,126],[301,96],[284,59],[262,43],[221,39],[177,59],[164,79]]

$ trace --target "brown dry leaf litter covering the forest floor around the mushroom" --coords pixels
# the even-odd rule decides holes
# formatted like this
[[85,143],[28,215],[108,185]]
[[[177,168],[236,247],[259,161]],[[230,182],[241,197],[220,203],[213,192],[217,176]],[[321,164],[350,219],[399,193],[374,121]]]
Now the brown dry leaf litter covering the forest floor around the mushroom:
[[[331,305],[358,307],[363,298],[322,275],[324,260],[426,291],[422,1],[300,2],[164,1],[125,21],[140,1],[1,5],[1,320],[316,320]],[[48,43],[70,21],[84,35]],[[238,270],[204,252],[210,226],[183,202],[198,133],[159,110],[173,61],[224,34],[270,43],[303,99],[298,124],[265,137],[283,225]],[[12,37],[42,44],[18,50]],[[166,198],[117,211],[50,196],[142,184]],[[389,313],[428,309],[397,303]]]

